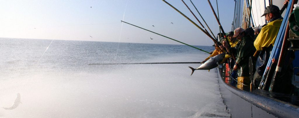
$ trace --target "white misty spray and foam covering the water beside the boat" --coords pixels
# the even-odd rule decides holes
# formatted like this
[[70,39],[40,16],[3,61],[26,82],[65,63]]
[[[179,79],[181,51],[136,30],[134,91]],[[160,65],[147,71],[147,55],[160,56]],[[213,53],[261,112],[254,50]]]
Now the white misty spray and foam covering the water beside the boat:
[[[190,59],[190,57],[192,57]],[[201,61],[206,55],[167,56],[146,62]],[[37,72],[2,80],[1,117],[209,117],[223,115],[215,70],[200,64],[92,66],[97,72]],[[102,68],[105,67],[105,68]],[[105,69],[108,71],[100,71]],[[221,101],[221,100],[220,100]],[[220,113],[221,112],[221,113]],[[213,116],[213,115],[212,115]],[[219,115],[214,115],[219,117]]]

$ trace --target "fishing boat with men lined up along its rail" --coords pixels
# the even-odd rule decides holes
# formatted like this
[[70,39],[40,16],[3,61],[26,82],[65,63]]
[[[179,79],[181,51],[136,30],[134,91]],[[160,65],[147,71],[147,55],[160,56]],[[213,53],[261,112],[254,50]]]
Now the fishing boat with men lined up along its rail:
[[[241,11],[239,11],[237,14],[241,16],[235,16],[235,20],[233,21],[232,24],[232,30],[237,28],[237,27],[242,27],[244,29],[248,27],[258,27],[262,26],[265,24],[265,18],[260,17],[263,14],[263,11],[266,6],[269,4],[273,4],[278,6],[279,8],[282,8],[283,6],[283,1],[258,1],[258,0],[237,0],[236,6],[237,8],[243,7]],[[291,8],[293,4],[296,4],[297,1],[290,0],[290,3],[288,4],[288,7],[286,8],[285,12],[283,13],[282,16],[284,16],[285,22],[283,22],[282,26],[280,27],[280,32],[284,35],[285,32],[289,28],[284,28],[284,27],[289,27],[287,25],[290,24],[290,29],[293,32],[289,32],[289,40],[290,39],[296,39],[298,38],[296,33],[297,31],[294,31],[294,25],[291,26],[291,24],[296,23],[294,19],[295,16],[297,16],[296,11],[292,12]],[[239,4],[239,5],[238,5]],[[240,6],[241,5],[241,6]],[[252,6],[251,6],[252,5]],[[260,6],[259,6],[260,5]],[[299,8],[299,7],[298,7]],[[235,9],[236,10],[236,9]],[[290,17],[289,14],[291,13]],[[239,18],[239,19],[238,19]],[[289,24],[288,24],[288,20]],[[250,20],[251,19],[251,20]],[[239,20],[239,21],[237,21]],[[234,24],[235,23],[235,24]],[[283,26],[284,25],[284,26]],[[279,35],[277,36],[279,37]],[[281,39],[276,39],[278,44],[278,41],[283,41],[284,36],[280,36]],[[295,37],[295,38],[293,38]],[[299,97],[298,97],[298,56],[299,53],[298,47],[294,47],[296,45],[295,42],[291,42],[292,46],[291,47],[286,47],[287,45],[283,45],[284,47],[277,50],[278,52],[276,55],[277,57],[279,55],[282,55],[283,49],[284,50],[292,50],[295,52],[295,60],[292,62],[293,64],[293,72],[292,72],[292,91],[288,91],[287,93],[289,94],[284,94],[280,92],[275,92],[271,90],[271,86],[268,89],[254,89],[251,88],[250,86],[245,86],[237,83],[237,80],[234,80],[231,77],[228,77],[228,75],[225,74],[227,70],[225,70],[225,66],[220,66],[218,69],[218,79],[219,79],[219,89],[221,91],[221,95],[223,98],[223,103],[226,106],[226,110],[229,114],[231,114],[231,117],[284,117],[284,118],[295,118],[299,116]],[[273,50],[272,50],[273,52]],[[274,51],[275,52],[275,51]],[[285,52],[286,53],[286,52]],[[271,55],[275,55],[272,53]],[[274,58],[274,57],[273,57]],[[282,57],[284,58],[284,57]],[[271,63],[271,59],[269,59],[269,63]],[[277,60],[278,58],[276,58]],[[268,60],[266,60],[268,61]],[[273,63],[272,63],[273,64]],[[275,64],[274,64],[275,65]],[[281,67],[281,66],[280,66]],[[279,67],[277,67],[279,68]],[[276,65],[272,67],[272,69],[276,69]],[[297,69],[297,70],[296,70]],[[273,71],[272,70],[272,71]],[[270,73],[270,72],[269,72]],[[272,75],[274,73],[271,73]],[[297,74],[297,75],[296,75]],[[267,74],[266,74],[267,75]],[[264,76],[266,76],[264,75]],[[274,75],[275,76],[275,75]],[[274,77],[271,77],[271,79]],[[275,78],[274,78],[275,79]],[[272,79],[272,81],[274,81]],[[271,82],[271,81],[270,81]],[[263,84],[263,83],[261,83]]]

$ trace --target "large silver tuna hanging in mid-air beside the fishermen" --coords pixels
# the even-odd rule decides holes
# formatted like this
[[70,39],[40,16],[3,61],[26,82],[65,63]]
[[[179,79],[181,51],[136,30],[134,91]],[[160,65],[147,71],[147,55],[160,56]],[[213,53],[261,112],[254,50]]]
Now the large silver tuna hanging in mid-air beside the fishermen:
[[224,56],[225,56],[225,53],[216,55],[216,56],[210,58],[209,60],[207,60],[205,63],[203,63],[196,69],[189,66],[189,68],[192,69],[191,75],[193,74],[193,72],[195,70],[210,70],[210,69],[217,67],[219,65],[219,63],[223,60]]

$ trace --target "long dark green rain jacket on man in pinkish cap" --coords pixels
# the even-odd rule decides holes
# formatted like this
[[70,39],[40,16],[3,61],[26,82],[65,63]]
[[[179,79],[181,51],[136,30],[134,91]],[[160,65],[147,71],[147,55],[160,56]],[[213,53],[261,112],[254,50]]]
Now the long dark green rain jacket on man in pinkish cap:
[[238,77],[249,77],[249,57],[253,56],[256,51],[253,42],[248,35],[239,41],[235,48],[231,48],[236,57],[236,63],[239,63]]

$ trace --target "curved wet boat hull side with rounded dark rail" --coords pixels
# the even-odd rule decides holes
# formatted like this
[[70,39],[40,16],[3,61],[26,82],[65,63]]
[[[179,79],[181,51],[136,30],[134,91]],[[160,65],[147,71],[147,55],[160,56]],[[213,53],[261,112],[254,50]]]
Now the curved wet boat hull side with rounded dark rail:
[[224,82],[219,71],[217,73],[219,89],[231,117],[295,118],[299,116],[299,108],[232,87]]

